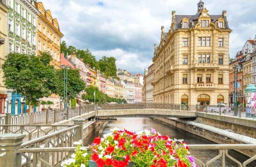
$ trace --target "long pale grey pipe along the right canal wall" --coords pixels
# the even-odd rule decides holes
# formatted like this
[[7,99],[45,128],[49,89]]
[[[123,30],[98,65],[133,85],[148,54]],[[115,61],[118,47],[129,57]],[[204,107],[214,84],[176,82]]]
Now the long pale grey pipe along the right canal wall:
[[167,119],[171,119],[173,121],[178,121],[178,122],[181,122],[183,124],[196,126],[197,128],[201,128],[201,129],[204,129],[204,130],[216,133],[216,134],[220,134],[222,136],[226,136],[228,138],[231,138],[231,139],[234,139],[234,140],[237,140],[237,141],[241,141],[242,143],[245,143],[245,144],[256,144],[256,139],[255,138],[244,136],[244,135],[233,133],[233,132],[228,132],[226,130],[215,128],[213,126],[200,124],[200,123],[193,122],[193,121],[182,120],[182,119],[179,119],[179,118],[167,118]]

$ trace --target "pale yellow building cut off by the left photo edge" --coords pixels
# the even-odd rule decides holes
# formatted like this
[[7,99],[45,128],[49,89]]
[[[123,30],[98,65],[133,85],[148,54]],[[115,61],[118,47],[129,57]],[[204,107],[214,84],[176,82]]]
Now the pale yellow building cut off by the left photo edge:
[[7,90],[4,86],[2,64],[4,64],[7,51],[7,6],[6,1],[0,0],[0,114],[4,114]]

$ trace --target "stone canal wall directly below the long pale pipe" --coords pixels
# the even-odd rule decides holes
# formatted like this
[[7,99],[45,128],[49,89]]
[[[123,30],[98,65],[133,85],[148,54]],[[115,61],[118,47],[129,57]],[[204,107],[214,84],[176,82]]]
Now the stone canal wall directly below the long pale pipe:
[[[225,136],[224,133],[222,133],[222,135],[221,135],[216,132],[213,132],[212,130],[205,128],[207,126],[204,124],[201,124],[204,127],[197,126],[196,124],[189,124],[188,121],[182,122],[179,120],[175,120],[177,118],[173,118],[173,119],[172,118],[155,118],[155,119],[165,122],[166,124],[172,125],[176,128],[185,130],[189,133],[195,134],[197,136],[206,138],[206,139],[213,141],[215,143],[218,143],[218,144],[241,144],[241,143],[243,143],[242,141],[234,140],[232,138]],[[193,121],[190,121],[190,122],[193,122]],[[207,125],[210,125],[210,124],[207,124]],[[254,140],[250,140],[250,141],[254,142]],[[238,151],[246,156],[249,156],[249,157],[252,157],[256,154],[256,150],[253,150],[253,149],[239,149],[236,151]]]

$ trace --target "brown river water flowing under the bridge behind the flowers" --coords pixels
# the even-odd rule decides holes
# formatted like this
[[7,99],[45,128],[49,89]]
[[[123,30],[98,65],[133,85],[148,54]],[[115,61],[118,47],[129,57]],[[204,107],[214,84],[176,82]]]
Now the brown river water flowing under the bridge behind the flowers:
[[[154,121],[153,119],[150,119],[150,118],[117,118],[117,121],[112,121],[105,126],[102,134],[91,133],[84,140],[84,145],[87,146],[91,144],[94,140],[94,137],[96,136],[102,137],[103,134],[109,133],[110,129],[113,129],[115,127],[119,129],[127,129],[132,131],[133,130],[140,131],[144,129],[154,128],[155,130],[157,130],[157,132],[161,133],[162,135],[169,135],[171,138],[176,138],[176,139],[184,139],[185,142],[188,144],[215,144],[212,141],[196,136],[184,130],[175,128],[171,125]],[[210,160],[213,157],[218,155],[217,150],[191,150],[191,153],[193,156],[199,158],[204,163],[207,160]],[[241,163],[244,162],[246,159],[248,159],[248,157],[235,151],[229,151],[229,155],[239,160]],[[213,162],[210,165],[210,167],[221,167],[221,159],[218,159],[217,161]],[[238,167],[238,165],[226,157],[226,167]],[[256,162],[254,161],[248,164],[247,167],[256,167]]]

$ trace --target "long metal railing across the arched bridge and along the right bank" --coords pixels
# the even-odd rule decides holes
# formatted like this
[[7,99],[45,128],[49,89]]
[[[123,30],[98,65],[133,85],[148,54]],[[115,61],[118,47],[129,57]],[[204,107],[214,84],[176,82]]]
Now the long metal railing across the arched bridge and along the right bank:
[[134,104],[101,104],[99,110],[120,109],[167,109],[179,111],[194,111],[241,118],[256,119],[256,107],[224,106],[224,105],[182,105],[169,103],[134,103]]

